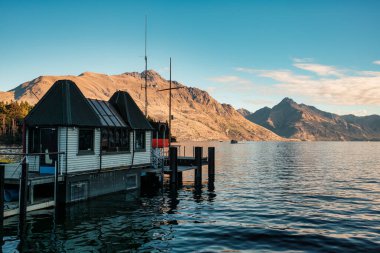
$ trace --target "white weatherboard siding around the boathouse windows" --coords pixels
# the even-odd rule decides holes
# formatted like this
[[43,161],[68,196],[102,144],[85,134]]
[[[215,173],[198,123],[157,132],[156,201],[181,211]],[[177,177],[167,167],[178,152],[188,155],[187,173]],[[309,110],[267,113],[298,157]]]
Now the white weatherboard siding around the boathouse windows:
[[[100,129],[95,129],[94,136],[94,154],[78,155],[78,128],[67,128],[67,172],[76,173],[81,171],[98,170],[100,168]],[[151,162],[151,148],[152,148],[152,132],[146,132],[146,150],[144,152],[135,152],[133,165],[147,164]],[[59,136],[59,151],[66,152],[66,128],[60,127],[58,130]],[[132,151],[133,135],[130,135],[130,150]],[[62,155],[61,168],[66,171],[66,158]],[[132,162],[132,152],[120,154],[103,154],[102,155],[102,169],[115,168],[122,166],[130,166]]]

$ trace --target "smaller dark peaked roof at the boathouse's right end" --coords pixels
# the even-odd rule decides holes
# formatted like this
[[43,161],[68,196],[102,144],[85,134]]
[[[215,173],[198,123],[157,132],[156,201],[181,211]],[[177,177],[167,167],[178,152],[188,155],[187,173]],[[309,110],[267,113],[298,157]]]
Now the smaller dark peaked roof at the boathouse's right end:
[[109,102],[132,129],[153,130],[140,108],[126,91],[117,91]]

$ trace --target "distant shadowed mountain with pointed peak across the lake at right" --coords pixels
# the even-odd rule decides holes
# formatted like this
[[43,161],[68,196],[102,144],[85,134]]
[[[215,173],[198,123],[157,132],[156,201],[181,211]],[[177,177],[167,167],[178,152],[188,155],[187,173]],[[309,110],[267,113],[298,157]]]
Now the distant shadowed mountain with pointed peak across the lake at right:
[[264,107],[245,116],[274,133],[300,140],[380,140],[380,116],[339,116],[284,98],[273,108]]

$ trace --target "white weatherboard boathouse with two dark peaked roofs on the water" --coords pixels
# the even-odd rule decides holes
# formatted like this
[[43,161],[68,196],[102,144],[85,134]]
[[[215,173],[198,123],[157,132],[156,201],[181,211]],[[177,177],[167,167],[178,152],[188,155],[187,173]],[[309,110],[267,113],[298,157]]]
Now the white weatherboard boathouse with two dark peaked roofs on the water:
[[[138,189],[152,170],[152,126],[125,91],[86,98],[59,80],[25,118],[29,171],[59,175],[60,202]],[[32,154],[39,154],[32,159]]]

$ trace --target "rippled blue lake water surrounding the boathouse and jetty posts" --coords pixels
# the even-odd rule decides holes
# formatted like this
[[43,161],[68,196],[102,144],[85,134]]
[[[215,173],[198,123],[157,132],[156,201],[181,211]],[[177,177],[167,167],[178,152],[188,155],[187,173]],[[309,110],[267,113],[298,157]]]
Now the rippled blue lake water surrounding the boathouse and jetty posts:
[[[216,146],[215,187],[115,194],[29,216],[29,251],[380,252],[380,143]],[[187,149],[189,152],[189,148]],[[206,171],[206,169],[204,169]],[[191,180],[192,174],[185,175]],[[207,176],[204,175],[204,179]],[[3,251],[20,243],[6,220]]]

